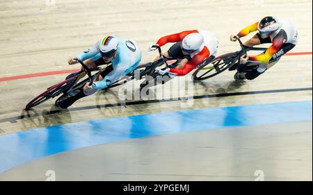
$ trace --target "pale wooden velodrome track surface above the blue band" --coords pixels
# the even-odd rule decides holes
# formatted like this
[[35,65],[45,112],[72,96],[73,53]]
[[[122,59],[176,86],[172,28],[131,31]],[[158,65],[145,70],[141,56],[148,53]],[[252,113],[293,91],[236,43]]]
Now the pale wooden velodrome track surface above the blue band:
[[[72,110],[55,112],[52,100],[29,113],[23,110],[34,96],[67,75],[49,75],[51,71],[78,69],[78,65],[67,65],[68,56],[84,51],[102,35],[136,40],[143,52],[143,62],[148,62],[156,53],[147,52],[147,47],[159,37],[189,29],[206,29],[218,37],[219,54],[223,54],[239,49],[236,42],[229,41],[230,34],[266,15],[289,18],[296,24],[299,42],[291,52],[305,55],[284,56],[266,74],[246,83],[234,82],[233,71],[225,71],[201,83],[193,83],[188,78],[188,83],[194,86],[191,96],[268,90],[286,92],[212,96],[195,99],[191,108],[182,108],[181,101],[130,103],[109,108],[95,106],[119,103],[118,88],[114,88],[77,101]],[[0,25],[0,135],[105,117],[312,101],[312,1],[56,0],[55,6],[47,6],[45,0],[1,0]],[[28,74],[37,75],[23,78]],[[21,75],[22,78],[15,78]],[[170,87],[165,89],[179,96]],[[312,137],[312,132],[310,135]],[[310,152],[312,180],[312,145]]]

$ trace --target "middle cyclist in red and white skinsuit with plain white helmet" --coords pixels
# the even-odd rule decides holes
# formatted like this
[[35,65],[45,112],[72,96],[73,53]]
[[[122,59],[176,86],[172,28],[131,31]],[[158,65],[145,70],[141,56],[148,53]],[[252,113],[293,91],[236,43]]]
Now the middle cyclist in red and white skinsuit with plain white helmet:
[[[218,51],[218,40],[209,31],[183,31],[172,35],[161,37],[157,45],[163,46],[169,42],[175,42],[168,51],[163,53],[166,57],[182,59],[175,69],[160,70],[159,74],[168,73],[170,76],[184,76],[198,67],[198,65],[210,58],[213,60]],[[155,50],[156,45],[152,45],[150,50]],[[209,59],[209,60],[210,60]],[[159,60],[157,57],[154,61]]]

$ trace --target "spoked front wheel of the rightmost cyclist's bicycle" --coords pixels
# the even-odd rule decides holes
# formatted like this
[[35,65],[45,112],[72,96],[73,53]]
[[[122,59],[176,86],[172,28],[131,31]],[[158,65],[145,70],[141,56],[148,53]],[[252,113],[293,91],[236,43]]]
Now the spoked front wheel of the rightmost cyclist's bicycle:
[[227,53],[223,56],[218,56],[214,58],[208,64],[204,64],[193,73],[193,80],[200,81],[207,78],[211,78],[220,74],[221,72],[229,69],[236,62],[237,55],[236,53]]

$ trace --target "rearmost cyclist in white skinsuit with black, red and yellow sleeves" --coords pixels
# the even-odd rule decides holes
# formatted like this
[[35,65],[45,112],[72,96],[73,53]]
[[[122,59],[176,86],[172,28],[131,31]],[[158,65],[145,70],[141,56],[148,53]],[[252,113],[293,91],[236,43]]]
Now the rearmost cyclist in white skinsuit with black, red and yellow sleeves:
[[[296,26],[287,19],[277,19],[274,17],[264,17],[260,22],[243,28],[237,35],[231,35],[230,40],[236,41],[237,37],[244,37],[249,33],[259,31],[244,44],[255,46],[258,44],[272,43],[268,49],[258,56],[242,56],[237,67],[236,80],[252,80],[264,73],[266,69],[275,65],[285,53],[296,46],[298,42],[298,31]],[[250,62],[246,64],[247,62]],[[257,63],[258,68],[246,71],[248,65]]]

